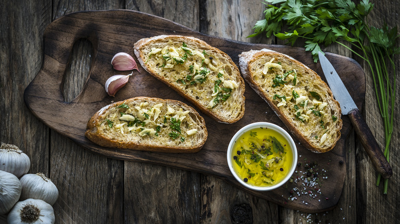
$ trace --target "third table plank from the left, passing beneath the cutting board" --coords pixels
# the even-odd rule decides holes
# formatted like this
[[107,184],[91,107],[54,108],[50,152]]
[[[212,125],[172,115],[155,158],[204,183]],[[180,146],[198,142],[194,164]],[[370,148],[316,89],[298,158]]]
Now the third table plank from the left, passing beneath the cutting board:
[[[198,30],[197,1],[134,1],[127,2],[126,8],[171,19]],[[125,222],[198,222],[200,176],[196,172],[157,164],[126,161]]]

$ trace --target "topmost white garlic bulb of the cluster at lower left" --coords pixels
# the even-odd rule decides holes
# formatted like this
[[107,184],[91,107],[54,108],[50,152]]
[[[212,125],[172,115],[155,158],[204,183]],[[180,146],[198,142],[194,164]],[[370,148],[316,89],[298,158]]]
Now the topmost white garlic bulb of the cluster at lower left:
[[0,146],[0,170],[21,177],[28,172],[31,161],[27,154],[19,150],[15,145],[2,143]]

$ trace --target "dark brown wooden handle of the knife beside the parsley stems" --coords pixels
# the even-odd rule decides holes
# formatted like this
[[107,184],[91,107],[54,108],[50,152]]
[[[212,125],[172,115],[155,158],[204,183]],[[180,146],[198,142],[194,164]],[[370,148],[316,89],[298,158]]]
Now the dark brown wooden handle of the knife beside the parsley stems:
[[357,108],[351,110],[349,117],[354,126],[355,132],[360,138],[361,143],[363,144],[364,149],[376,170],[382,174],[382,177],[385,179],[392,176],[392,167],[390,167],[389,162],[386,160],[381,147],[379,147],[378,143],[376,142],[375,137],[372,135],[367,123],[361,117],[359,110]]

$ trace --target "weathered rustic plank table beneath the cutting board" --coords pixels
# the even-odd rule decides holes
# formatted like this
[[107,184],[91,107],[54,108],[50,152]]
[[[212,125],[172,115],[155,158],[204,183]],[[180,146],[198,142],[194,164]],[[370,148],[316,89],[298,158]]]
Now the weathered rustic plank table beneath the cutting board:
[[[378,27],[396,26],[399,1],[371,1],[369,16]],[[260,199],[218,180],[190,171],[94,154],[39,121],[24,103],[24,89],[43,62],[46,27],[65,14],[87,10],[130,9],[161,16],[193,30],[233,40],[282,44],[275,38],[246,38],[263,17],[261,1],[1,1],[0,141],[19,146],[32,161],[30,173],[43,172],[59,190],[54,205],[57,223],[396,223],[400,220],[398,157],[399,113],[390,148],[393,176],[388,194],[376,187],[376,172],[354,133],[346,140],[347,174],[336,208],[323,213],[294,211]],[[340,46],[325,51],[353,57]],[[72,74],[64,95],[72,100],[88,74],[90,43],[75,44]],[[357,59],[357,58],[355,58]],[[395,58],[400,70],[399,58]],[[362,61],[359,61],[366,68]],[[366,72],[363,115],[378,143],[384,131],[373,81]],[[397,87],[396,92],[399,92]],[[398,95],[398,94],[397,94]],[[396,105],[400,101],[397,96]],[[0,216],[0,223],[6,223]],[[245,222],[251,223],[251,222]]]

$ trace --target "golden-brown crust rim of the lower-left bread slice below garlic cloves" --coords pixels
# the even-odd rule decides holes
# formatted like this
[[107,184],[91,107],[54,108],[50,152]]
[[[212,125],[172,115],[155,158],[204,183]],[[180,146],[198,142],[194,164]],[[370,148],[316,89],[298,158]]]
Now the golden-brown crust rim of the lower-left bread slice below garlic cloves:
[[[198,125],[202,128],[201,141],[198,141],[195,145],[191,146],[178,146],[174,145],[163,145],[163,144],[152,144],[152,143],[141,143],[141,141],[126,141],[121,138],[110,138],[99,128],[102,122],[104,122],[104,117],[107,116],[108,110],[112,107],[117,107],[122,104],[129,104],[130,102],[155,102],[155,103],[166,103],[168,105],[177,105],[184,110],[189,110],[189,115],[195,117]],[[96,114],[92,116],[92,118],[87,123],[87,130],[85,132],[85,136],[92,142],[96,143],[99,146],[103,147],[111,147],[111,148],[122,148],[122,149],[133,149],[133,150],[143,150],[143,151],[154,151],[154,152],[170,152],[170,153],[193,153],[199,151],[207,140],[207,128],[206,123],[202,116],[200,116],[195,109],[186,105],[181,101],[176,100],[164,100],[159,98],[151,98],[151,97],[135,97],[130,98],[124,101],[115,102],[109,104],[102,109],[98,110]],[[166,140],[168,141],[168,140]]]

